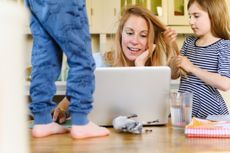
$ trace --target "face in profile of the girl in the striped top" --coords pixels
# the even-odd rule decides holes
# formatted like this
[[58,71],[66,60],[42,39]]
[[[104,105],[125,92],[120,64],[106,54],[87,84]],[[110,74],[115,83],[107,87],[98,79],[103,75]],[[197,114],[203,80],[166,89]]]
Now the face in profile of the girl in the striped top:
[[205,12],[201,6],[194,2],[188,9],[190,16],[189,24],[198,37],[203,37],[211,34],[211,23],[208,12]]

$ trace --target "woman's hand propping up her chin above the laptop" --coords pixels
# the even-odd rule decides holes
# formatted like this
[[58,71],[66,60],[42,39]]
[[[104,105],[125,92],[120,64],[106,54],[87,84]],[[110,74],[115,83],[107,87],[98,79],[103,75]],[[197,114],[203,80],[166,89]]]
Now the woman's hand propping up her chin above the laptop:
[[155,50],[156,45],[153,44],[153,48],[151,51],[146,50],[141,55],[139,55],[135,60],[135,66],[145,66],[146,61],[152,55],[153,51]]

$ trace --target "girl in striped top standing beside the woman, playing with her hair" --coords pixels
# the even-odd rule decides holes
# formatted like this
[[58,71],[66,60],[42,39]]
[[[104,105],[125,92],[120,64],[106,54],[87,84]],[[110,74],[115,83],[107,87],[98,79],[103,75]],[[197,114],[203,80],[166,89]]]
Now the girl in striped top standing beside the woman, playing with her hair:
[[[192,115],[228,114],[218,92],[230,89],[230,19],[225,0],[189,0],[189,24],[195,36],[188,37],[175,67],[181,76],[179,92],[193,93]],[[176,71],[175,71],[176,72]]]

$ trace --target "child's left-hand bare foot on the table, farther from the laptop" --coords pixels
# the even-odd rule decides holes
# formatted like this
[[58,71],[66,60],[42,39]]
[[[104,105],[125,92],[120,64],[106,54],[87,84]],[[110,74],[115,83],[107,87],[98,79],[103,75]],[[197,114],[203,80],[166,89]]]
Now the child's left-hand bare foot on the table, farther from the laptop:
[[69,130],[64,128],[63,126],[52,122],[49,124],[38,124],[34,125],[32,130],[33,137],[40,138],[40,137],[46,137],[53,134],[61,134],[61,133],[67,133]]

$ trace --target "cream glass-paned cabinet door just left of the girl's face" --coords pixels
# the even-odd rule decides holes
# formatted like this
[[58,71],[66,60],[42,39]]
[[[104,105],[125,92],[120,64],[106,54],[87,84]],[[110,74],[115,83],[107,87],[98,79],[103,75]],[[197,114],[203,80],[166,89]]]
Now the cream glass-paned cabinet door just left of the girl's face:
[[188,0],[170,0],[168,2],[168,25],[189,25]]

